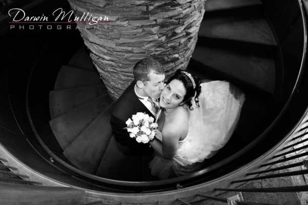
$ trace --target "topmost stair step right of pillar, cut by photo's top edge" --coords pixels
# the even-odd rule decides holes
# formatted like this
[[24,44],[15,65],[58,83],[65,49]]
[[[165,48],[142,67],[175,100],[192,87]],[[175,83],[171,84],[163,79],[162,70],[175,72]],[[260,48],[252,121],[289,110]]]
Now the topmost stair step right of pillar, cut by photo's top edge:
[[205,12],[213,12],[260,5],[262,5],[260,0],[207,0],[204,9]]

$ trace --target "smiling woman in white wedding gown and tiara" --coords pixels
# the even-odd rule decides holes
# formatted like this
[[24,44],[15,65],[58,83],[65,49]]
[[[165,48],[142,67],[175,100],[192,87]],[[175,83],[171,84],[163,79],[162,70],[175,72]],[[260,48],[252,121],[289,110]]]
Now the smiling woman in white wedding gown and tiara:
[[160,95],[163,114],[150,141],[155,150],[151,175],[167,179],[199,169],[231,137],[244,100],[226,81],[201,84],[196,76],[178,70]]

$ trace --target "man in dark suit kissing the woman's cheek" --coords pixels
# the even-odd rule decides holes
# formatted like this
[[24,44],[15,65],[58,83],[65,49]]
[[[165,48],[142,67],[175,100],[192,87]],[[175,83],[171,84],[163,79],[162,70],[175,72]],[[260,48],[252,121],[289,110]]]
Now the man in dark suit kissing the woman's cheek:
[[148,144],[129,137],[125,122],[137,112],[145,112],[156,119],[158,98],[164,89],[164,69],[155,59],[144,58],[136,63],[132,73],[134,80],[115,103],[110,124],[115,139],[129,148],[128,154],[149,154],[152,149]]

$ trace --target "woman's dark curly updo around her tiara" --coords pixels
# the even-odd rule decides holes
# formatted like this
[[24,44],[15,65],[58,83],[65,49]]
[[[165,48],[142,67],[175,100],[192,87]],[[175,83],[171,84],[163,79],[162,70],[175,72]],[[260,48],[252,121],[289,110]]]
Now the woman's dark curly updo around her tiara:
[[192,86],[191,79],[185,73],[183,73],[182,70],[177,70],[176,73],[168,79],[167,84],[169,84],[174,79],[180,80],[184,84],[184,87],[186,89],[186,94],[184,96],[182,103],[184,102],[183,104],[186,104],[190,110],[194,110],[193,108],[191,108],[191,106],[192,106],[191,99],[196,94],[195,102],[196,102],[197,107],[199,107],[198,97],[201,93],[201,86],[200,86],[201,79],[198,78],[196,75],[191,75],[191,76],[192,76],[192,78],[194,78],[194,81],[195,81],[195,84],[196,84],[195,89]]

